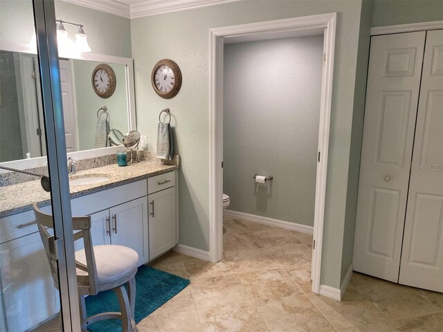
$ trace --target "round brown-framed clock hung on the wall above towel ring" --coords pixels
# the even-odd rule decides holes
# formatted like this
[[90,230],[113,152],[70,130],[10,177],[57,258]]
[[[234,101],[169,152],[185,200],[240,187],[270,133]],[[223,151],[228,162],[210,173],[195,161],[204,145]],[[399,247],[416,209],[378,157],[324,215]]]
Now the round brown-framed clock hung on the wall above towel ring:
[[161,98],[174,98],[181,87],[179,66],[170,59],[161,59],[152,69],[151,83],[154,91]]

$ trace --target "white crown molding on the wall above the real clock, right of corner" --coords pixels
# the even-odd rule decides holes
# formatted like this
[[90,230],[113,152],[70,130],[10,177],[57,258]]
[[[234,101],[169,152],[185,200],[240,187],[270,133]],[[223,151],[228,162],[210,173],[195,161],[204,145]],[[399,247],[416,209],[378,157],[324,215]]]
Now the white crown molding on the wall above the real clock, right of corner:
[[152,15],[165,14],[166,12],[177,12],[207,6],[230,3],[240,0],[147,0],[142,3],[131,5],[131,19]]

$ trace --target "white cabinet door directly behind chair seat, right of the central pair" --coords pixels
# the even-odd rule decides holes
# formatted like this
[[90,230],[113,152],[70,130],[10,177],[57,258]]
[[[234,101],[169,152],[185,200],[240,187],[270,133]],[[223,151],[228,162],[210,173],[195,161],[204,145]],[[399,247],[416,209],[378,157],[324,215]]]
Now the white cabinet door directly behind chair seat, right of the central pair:
[[109,209],[111,243],[127,246],[138,253],[138,265],[149,260],[147,197],[134,199]]

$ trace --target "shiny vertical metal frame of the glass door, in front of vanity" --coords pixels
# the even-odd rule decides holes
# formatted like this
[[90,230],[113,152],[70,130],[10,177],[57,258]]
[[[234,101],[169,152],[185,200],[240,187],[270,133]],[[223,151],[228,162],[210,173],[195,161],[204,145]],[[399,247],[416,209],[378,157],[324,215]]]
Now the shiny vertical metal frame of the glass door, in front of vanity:
[[[63,331],[80,331],[54,0],[33,0]],[[45,157],[46,158],[46,157]]]

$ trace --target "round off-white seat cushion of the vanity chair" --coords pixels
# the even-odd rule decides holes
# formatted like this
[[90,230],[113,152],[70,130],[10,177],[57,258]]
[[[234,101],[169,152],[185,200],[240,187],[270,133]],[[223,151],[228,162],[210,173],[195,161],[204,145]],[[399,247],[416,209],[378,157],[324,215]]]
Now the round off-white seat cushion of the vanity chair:
[[[131,248],[104,245],[93,246],[93,251],[99,284],[124,277],[138,266],[138,254]],[[75,260],[86,265],[84,249],[75,252]],[[87,275],[87,272],[77,268],[77,275]]]

